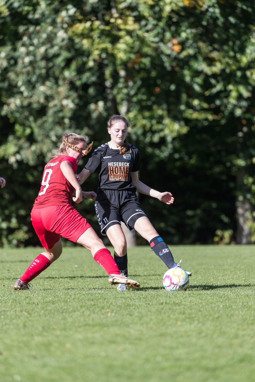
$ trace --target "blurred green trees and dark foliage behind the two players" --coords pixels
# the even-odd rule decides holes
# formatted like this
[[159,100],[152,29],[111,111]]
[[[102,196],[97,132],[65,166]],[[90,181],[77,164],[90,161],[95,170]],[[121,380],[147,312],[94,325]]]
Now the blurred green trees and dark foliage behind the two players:
[[[107,141],[116,113],[140,179],[175,197],[140,195],[165,240],[238,242],[237,200],[254,227],[254,35],[252,0],[1,1],[0,244],[39,244],[29,214],[45,161],[66,132]],[[93,204],[77,208],[99,232]]]

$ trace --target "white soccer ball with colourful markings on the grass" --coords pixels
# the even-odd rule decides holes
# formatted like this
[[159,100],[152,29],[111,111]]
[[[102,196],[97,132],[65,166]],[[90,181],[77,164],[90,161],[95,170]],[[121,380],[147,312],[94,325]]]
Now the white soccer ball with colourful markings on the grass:
[[163,277],[163,285],[167,291],[185,290],[189,282],[187,273],[180,267],[168,269]]

